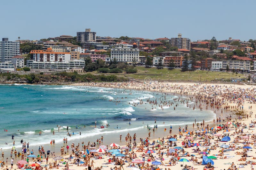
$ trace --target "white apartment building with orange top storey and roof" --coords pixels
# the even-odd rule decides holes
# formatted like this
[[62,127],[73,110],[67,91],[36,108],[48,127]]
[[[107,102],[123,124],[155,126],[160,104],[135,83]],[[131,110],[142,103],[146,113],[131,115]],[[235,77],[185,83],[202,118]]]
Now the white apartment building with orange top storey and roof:
[[68,62],[70,60],[70,53],[54,52],[52,48],[47,48],[47,50],[31,50],[30,54],[34,61],[40,62]]

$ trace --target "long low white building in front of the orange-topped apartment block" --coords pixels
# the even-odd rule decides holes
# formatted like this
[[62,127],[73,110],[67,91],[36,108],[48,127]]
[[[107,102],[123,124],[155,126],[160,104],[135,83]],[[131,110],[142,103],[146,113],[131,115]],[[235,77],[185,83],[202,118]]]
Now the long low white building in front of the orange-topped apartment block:
[[40,62],[27,60],[27,67],[39,70],[82,68],[84,67],[84,60],[69,60],[68,62]]

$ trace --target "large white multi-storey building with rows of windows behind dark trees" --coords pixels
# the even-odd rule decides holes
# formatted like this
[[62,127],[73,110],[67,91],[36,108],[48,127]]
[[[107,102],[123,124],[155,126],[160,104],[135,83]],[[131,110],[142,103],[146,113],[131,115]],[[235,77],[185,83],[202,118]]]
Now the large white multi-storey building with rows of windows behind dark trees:
[[132,62],[133,58],[139,62],[139,48],[111,48],[110,58],[113,61]]

